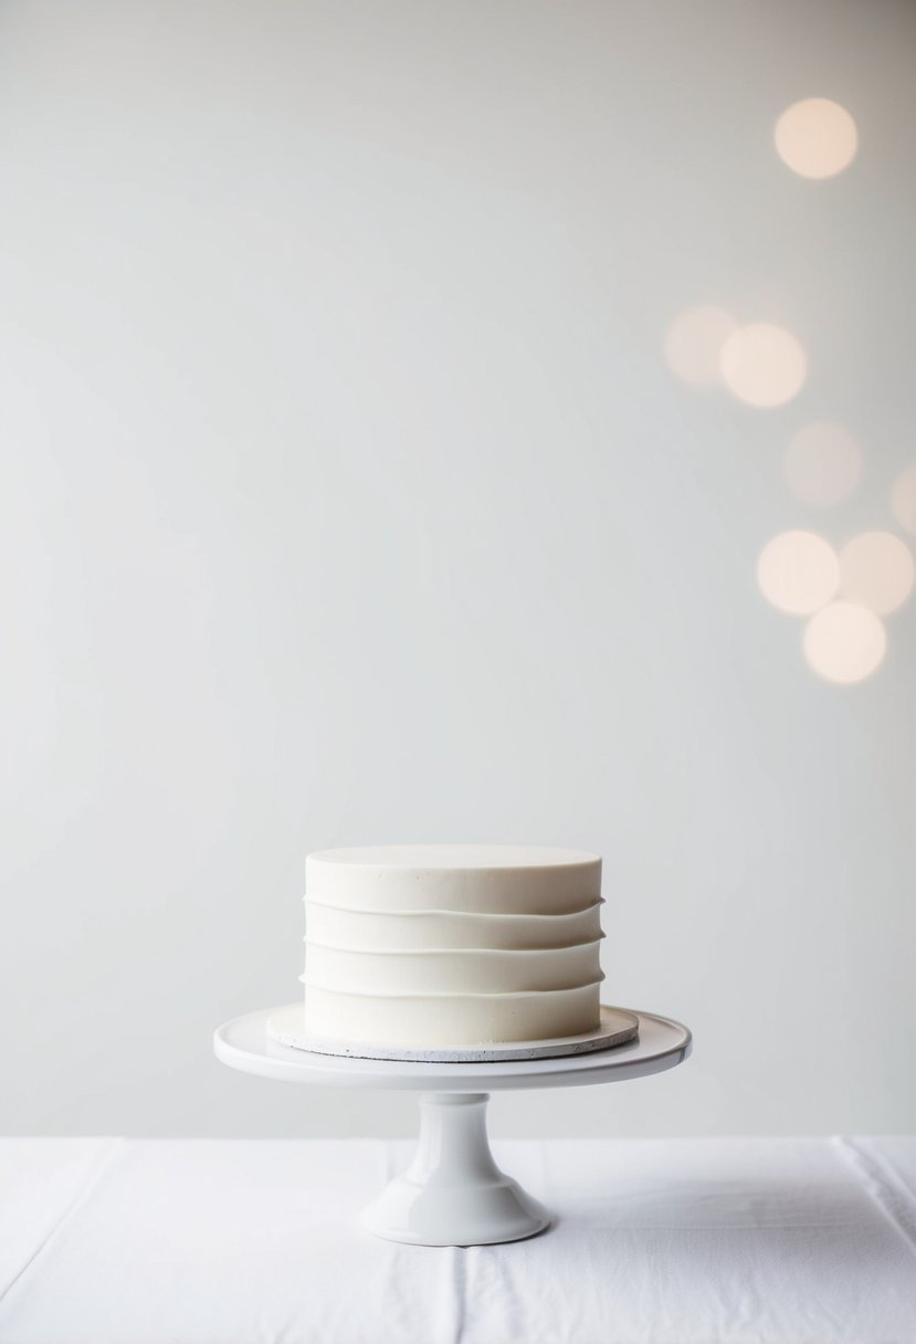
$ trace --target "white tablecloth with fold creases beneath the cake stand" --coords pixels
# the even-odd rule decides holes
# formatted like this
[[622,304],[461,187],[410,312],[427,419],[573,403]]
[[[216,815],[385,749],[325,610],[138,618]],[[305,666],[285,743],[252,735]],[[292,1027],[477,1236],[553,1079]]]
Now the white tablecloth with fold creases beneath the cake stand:
[[438,1250],[357,1222],[410,1144],[0,1141],[0,1341],[916,1341],[916,1138],[493,1149],[555,1227]]

